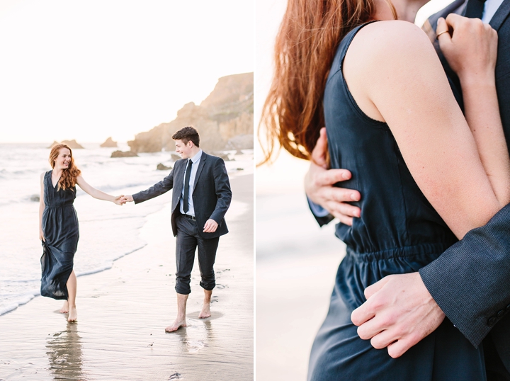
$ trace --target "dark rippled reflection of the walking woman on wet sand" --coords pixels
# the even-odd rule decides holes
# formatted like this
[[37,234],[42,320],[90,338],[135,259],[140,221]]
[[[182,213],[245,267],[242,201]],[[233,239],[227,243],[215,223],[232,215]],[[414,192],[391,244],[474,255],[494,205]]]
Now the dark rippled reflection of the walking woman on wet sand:
[[55,380],[84,380],[83,353],[78,324],[67,323],[65,331],[49,336],[46,343],[50,372]]

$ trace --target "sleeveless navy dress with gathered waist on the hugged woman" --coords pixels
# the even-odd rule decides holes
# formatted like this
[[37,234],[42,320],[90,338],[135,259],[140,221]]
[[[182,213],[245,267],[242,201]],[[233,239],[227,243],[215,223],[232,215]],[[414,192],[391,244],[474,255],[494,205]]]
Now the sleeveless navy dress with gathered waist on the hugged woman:
[[348,90],[341,65],[363,26],[341,41],[324,91],[331,168],[352,172],[341,186],[361,192],[361,201],[353,203],[361,217],[353,218],[352,227],[336,225],[347,252],[312,346],[308,380],[485,380],[482,347],[474,348],[448,319],[397,359],[360,339],[351,322],[368,285],[418,271],[457,241],[414,182],[390,128],[365,115]]

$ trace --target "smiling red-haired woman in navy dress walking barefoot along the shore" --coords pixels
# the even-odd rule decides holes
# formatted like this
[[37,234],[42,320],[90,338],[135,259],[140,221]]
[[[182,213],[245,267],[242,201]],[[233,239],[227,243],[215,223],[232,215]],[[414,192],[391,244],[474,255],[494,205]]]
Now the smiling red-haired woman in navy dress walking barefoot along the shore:
[[120,204],[120,197],[108,195],[90,186],[74,164],[71,148],[55,144],[50,152],[52,171],[41,174],[39,238],[42,241],[41,295],[65,300],[60,312],[69,313],[67,320],[77,320],[77,278],[73,270],[79,227],[74,210],[76,185],[98,200]]

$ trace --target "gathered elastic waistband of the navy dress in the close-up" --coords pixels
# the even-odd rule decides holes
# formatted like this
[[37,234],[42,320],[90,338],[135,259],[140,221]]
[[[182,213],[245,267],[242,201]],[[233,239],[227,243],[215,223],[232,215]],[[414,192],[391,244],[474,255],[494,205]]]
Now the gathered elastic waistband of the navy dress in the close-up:
[[347,255],[353,256],[357,261],[378,261],[388,258],[402,258],[413,256],[435,256],[438,257],[443,254],[443,251],[448,249],[453,242],[436,242],[428,244],[417,244],[414,246],[395,247],[393,249],[386,249],[381,251],[373,251],[370,253],[358,253],[350,246],[347,246]]

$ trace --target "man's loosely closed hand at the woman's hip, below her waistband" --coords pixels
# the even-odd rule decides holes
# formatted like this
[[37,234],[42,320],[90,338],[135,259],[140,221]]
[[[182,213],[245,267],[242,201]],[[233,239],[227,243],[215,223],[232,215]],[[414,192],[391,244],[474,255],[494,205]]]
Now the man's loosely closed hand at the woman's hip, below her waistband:
[[367,301],[351,320],[361,339],[376,349],[387,347],[392,358],[433,332],[445,318],[419,273],[388,275],[365,288]]

